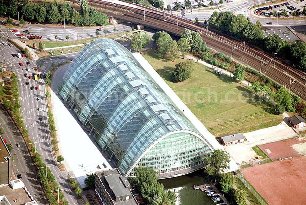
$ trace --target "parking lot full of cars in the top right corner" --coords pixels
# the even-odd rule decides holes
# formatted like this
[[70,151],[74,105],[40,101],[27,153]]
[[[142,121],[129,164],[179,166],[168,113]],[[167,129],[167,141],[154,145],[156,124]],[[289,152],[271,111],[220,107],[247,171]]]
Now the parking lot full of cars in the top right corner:
[[282,4],[273,4],[269,6],[259,7],[254,10],[256,15],[266,17],[289,17],[302,15],[303,9],[306,7],[305,0],[295,2],[284,2]]

